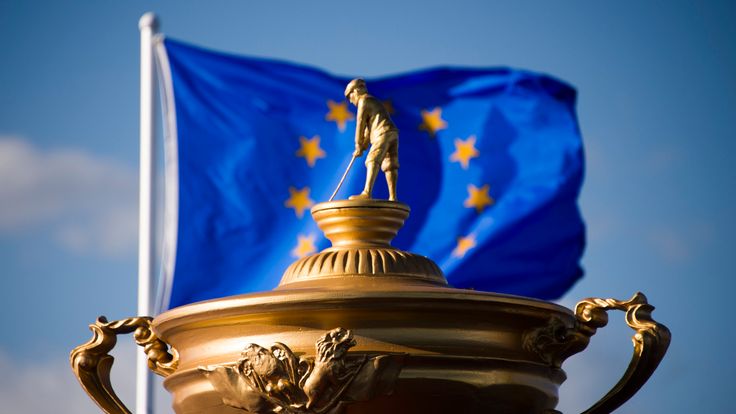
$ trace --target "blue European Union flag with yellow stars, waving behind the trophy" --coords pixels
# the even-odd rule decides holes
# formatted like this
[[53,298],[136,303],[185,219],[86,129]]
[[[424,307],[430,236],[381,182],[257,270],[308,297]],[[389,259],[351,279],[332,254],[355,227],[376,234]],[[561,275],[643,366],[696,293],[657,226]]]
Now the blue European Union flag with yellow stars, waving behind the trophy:
[[[309,208],[330,197],[355,146],[350,78],[171,39],[158,52],[167,306],[272,289],[296,258],[329,246]],[[412,211],[396,247],[430,257],[460,288],[549,299],[582,275],[572,87],[506,68],[427,69],[367,86],[400,130],[398,199]],[[354,168],[338,198],[364,178]],[[380,176],[374,197],[387,197]]]

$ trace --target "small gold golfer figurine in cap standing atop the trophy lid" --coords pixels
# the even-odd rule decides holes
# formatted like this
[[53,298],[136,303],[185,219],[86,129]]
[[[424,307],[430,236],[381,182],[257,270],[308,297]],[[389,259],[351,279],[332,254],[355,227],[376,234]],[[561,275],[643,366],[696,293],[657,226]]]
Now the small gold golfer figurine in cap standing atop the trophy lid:
[[396,180],[399,175],[399,130],[391,121],[383,103],[368,95],[363,79],[353,79],[345,88],[345,97],[358,108],[355,121],[355,152],[353,159],[370,151],[365,160],[367,170],[363,192],[351,196],[351,200],[371,198],[378,167],[381,167],[388,184],[388,199],[396,201]]

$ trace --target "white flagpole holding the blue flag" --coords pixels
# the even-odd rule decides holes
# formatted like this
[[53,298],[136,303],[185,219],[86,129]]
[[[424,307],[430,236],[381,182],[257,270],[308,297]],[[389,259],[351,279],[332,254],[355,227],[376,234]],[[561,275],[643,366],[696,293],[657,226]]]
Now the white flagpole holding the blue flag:
[[[156,15],[149,12],[138,21],[141,32],[141,113],[140,189],[138,195],[138,315],[153,316],[154,255],[153,172],[154,172],[154,67],[153,35],[158,30]],[[153,414],[153,373],[146,355],[137,352],[135,412]]]

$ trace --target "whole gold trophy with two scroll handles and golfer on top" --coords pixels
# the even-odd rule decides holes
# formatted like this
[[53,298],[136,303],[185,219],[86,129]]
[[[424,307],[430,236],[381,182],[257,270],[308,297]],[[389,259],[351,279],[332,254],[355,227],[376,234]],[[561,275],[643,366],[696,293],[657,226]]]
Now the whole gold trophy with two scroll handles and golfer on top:
[[[346,96],[365,120],[353,161],[371,149],[366,190],[311,209],[332,247],[292,263],[273,291],[156,318],[98,318],[93,338],[70,357],[95,403],[130,412],[110,383],[109,353],[118,334],[134,333],[177,413],[559,413],[561,365],[607,324],[609,310],[626,313],[634,353],[585,413],[610,413],[631,398],[670,343],[646,297],[584,299],[573,311],[449,287],[430,259],[391,247],[410,211],[392,201],[398,130],[365,82],[351,82]],[[392,200],[371,198],[379,166]]]

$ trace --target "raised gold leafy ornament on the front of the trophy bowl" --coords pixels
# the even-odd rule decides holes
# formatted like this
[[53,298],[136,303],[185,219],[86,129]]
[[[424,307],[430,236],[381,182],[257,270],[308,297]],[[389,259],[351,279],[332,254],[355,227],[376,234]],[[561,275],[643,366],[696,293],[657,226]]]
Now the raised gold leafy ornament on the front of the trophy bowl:
[[338,413],[346,402],[388,394],[403,355],[351,355],[351,331],[335,328],[316,344],[315,357],[288,346],[250,344],[236,363],[199,367],[225,405],[249,412]]

